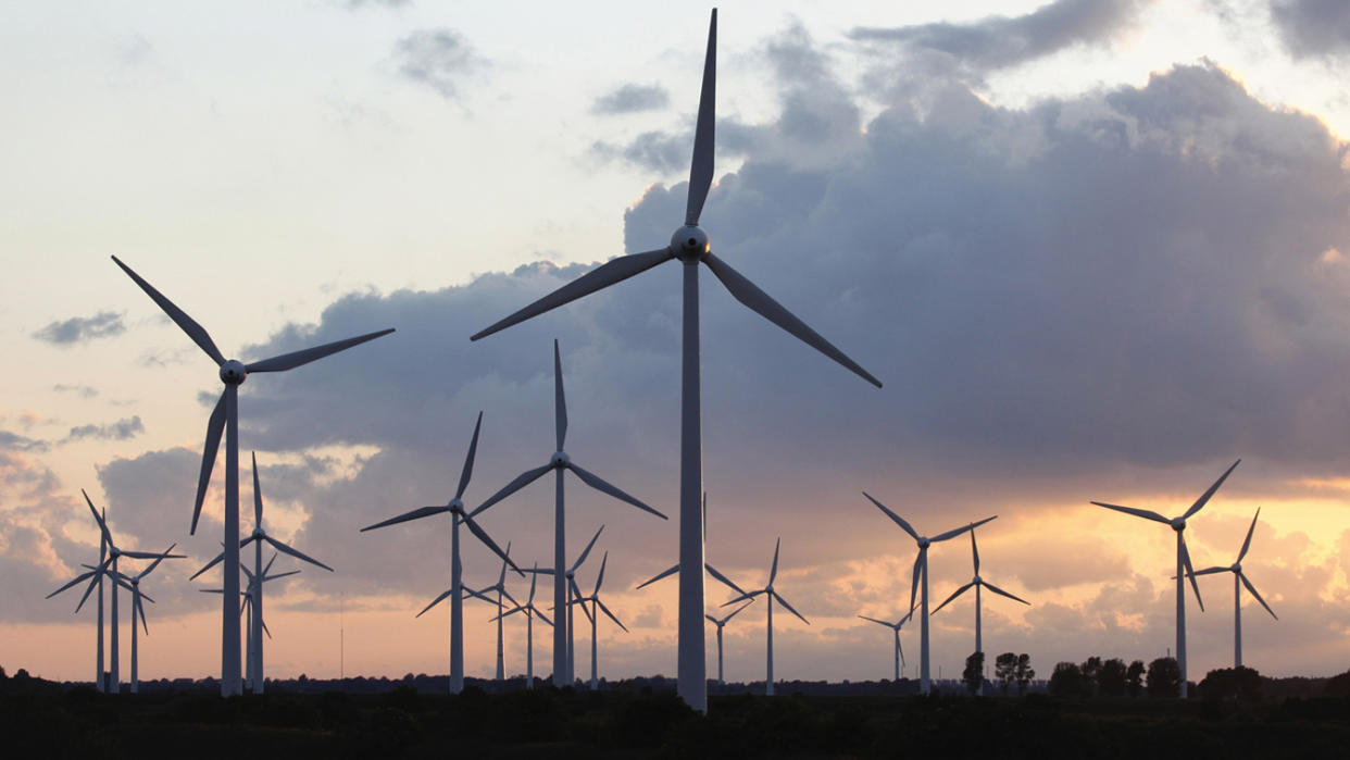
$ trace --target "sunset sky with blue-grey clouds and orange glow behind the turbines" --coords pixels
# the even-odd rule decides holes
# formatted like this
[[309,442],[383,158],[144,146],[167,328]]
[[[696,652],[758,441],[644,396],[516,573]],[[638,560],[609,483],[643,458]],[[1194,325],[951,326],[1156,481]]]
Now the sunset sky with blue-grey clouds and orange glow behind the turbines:
[[[568,454],[676,513],[678,267],[468,336],[680,221],[707,5],[51,3],[0,11],[0,666],[89,679],[93,609],[45,597],[97,556],[80,495],[144,582],[143,678],[219,675],[224,467],[188,535],[215,364],[117,255],[244,360],[397,332],[240,390],[240,501],[335,568],[267,589],[271,676],[448,670],[446,504],[474,420],[473,506]],[[1145,661],[1174,645],[1174,541],[1108,501],[1180,514],[1197,567],[1243,570],[1246,664],[1350,656],[1350,11],[1328,0],[726,3],[713,251],[884,382],[878,390],[702,278],[707,558],[768,576],[776,675],[891,674],[919,532],[992,514],[992,659]],[[568,483],[568,555],[605,525],[601,674],[675,674],[676,521]],[[244,509],[243,531],[252,516]],[[481,516],[547,563],[552,493]],[[467,539],[467,536],[466,536]],[[597,555],[595,559],[598,559]],[[143,564],[128,563],[128,567]],[[500,563],[466,540],[466,582]],[[580,571],[594,583],[598,563]],[[934,606],[971,579],[930,552]],[[513,580],[513,593],[528,585]],[[1233,659],[1226,575],[1189,597],[1192,679]],[[709,612],[729,597],[709,586]],[[547,597],[547,594],[543,594]],[[933,617],[933,670],[973,649],[973,599]],[[726,628],[761,679],[764,610]],[[124,607],[126,610],[126,607]],[[471,676],[491,610],[466,603]],[[127,618],[123,612],[123,640]],[[917,628],[915,628],[917,630]],[[913,675],[915,630],[903,632]],[[709,661],[716,667],[709,626]],[[524,625],[506,625],[524,672]],[[582,639],[585,641],[585,637]],[[589,643],[578,672],[589,672]],[[536,671],[551,639],[536,632]],[[124,649],[123,657],[130,653]],[[123,672],[127,664],[123,663]]]

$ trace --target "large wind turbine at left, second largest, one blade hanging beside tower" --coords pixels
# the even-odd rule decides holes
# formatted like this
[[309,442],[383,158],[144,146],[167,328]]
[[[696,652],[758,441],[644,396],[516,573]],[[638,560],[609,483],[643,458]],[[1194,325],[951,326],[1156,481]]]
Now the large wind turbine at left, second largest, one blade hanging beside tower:
[[158,304],[166,315],[169,315],[169,319],[171,319],[174,324],[188,333],[188,337],[190,337],[197,347],[211,356],[211,359],[220,369],[220,382],[225,385],[225,390],[220,394],[220,401],[216,402],[216,408],[211,412],[211,418],[207,423],[207,440],[201,455],[201,474],[197,478],[197,501],[192,510],[192,529],[189,533],[197,533],[197,518],[201,516],[201,502],[207,497],[207,483],[211,482],[211,470],[216,463],[216,450],[220,445],[220,433],[224,432],[225,598],[220,605],[220,695],[235,697],[243,694],[243,683],[239,678],[239,607],[231,601],[239,594],[239,386],[251,373],[279,373],[292,370],[316,359],[323,359],[329,354],[336,354],[338,351],[351,348],[352,346],[367,340],[374,340],[382,335],[389,335],[390,332],[394,332],[394,329],[382,329],[379,332],[348,337],[346,340],[336,340],[333,343],[315,346],[313,348],[293,351],[290,354],[282,354],[261,362],[244,364],[238,359],[225,359],[225,356],[220,352],[220,348],[216,348],[215,342],[211,340],[211,335],[208,335],[200,324],[189,317],[186,312],[176,306],[173,301],[155,290],[154,286],[142,279],[139,274],[131,271],[131,267],[122,263],[117,256],[112,256],[112,261],[122,267],[122,271],[126,271],[127,275],[131,277],[131,279],[139,285],[140,289],[144,290],[146,294],[150,296],[150,298]]

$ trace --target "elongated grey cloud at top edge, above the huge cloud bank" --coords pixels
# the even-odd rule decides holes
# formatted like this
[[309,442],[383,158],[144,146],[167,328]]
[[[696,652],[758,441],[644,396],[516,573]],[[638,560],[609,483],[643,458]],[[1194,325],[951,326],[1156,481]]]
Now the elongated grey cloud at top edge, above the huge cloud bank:
[[1056,0],[1025,16],[898,28],[859,27],[849,36],[933,51],[987,72],[1025,63],[1066,47],[1110,39],[1150,0]]

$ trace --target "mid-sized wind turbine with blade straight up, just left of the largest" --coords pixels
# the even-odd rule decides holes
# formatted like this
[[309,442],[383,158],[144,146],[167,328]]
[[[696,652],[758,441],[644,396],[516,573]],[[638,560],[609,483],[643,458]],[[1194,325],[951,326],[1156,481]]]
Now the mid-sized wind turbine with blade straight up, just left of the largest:
[[[493,494],[491,498],[489,498],[478,509],[471,512],[470,517],[482,513],[489,506],[524,489],[529,483],[533,483],[535,481],[541,478],[544,472],[552,470],[555,472],[554,482],[556,494],[554,497],[554,567],[566,567],[567,564],[567,556],[566,556],[567,521],[566,521],[564,499],[563,499],[563,472],[567,470],[571,470],[587,486],[603,494],[609,494],[620,501],[628,502],[636,506],[637,509],[641,509],[643,512],[649,512],[656,517],[666,520],[666,516],[662,514],[660,512],[656,512],[655,509],[647,506],[645,504],[618,490],[617,487],[606,483],[593,472],[583,470],[580,466],[572,462],[571,456],[568,456],[566,451],[563,451],[563,444],[567,440],[567,398],[563,393],[563,360],[558,350],[556,339],[554,340],[554,433],[555,433],[554,436],[555,441],[558,443],[558,451],[554,452],[548,463],[544,464],[543,467],[525,471],[510,483],[506,483],[506,486],[502,490]],[[552,572],[552,571],[540,570],[539,572]],[[563,610],[567,606],[566,582],[567,582],[566,578],[555,574],[554,609],[559,610],[555,614],[562,614],[560,610]],[[571,614],[568,613],[567,617],[568,617],[568,626],[571,626]],[[567,653],[567,648],[570,647],[567,639],[570,636],[571,630],[564,632],[562,626],[558,625],[554,626],[554,684],[555,686],[559,686],[559,683],[563,684],[572,683],[571,656]]]

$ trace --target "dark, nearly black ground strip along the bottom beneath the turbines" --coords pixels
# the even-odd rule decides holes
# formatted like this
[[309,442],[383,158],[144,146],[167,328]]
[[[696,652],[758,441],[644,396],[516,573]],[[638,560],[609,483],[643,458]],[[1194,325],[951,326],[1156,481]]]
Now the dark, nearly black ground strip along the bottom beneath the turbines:
[[613,684],[459,697],[120,697],[11,679],[5,757],[1346,757],[1350,699],[714,695]]

